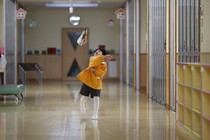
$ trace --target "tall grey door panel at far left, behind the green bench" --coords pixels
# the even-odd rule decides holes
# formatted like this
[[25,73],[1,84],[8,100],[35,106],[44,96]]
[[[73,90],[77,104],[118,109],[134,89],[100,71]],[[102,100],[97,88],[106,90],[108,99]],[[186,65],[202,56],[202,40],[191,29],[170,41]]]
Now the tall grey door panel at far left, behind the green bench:
[[[16,4],[10,0],[4,2],[4,47],[5,57],[7,60],[6,69],[4,70],[6,84],[17,83],[17,27],[16,27]],[[2,12],[1,12],[2,13]],[[9,15],[9,16],[8,16]],[[2,28],[3,29],[3,28]]]

